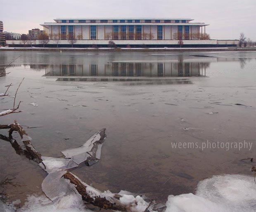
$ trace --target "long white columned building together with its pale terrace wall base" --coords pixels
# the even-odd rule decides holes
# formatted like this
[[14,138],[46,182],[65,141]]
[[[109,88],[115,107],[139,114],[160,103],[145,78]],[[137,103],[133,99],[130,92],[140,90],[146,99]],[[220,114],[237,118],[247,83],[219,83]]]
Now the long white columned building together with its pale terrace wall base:
[[[205,23],[190,18],[57,18],[40,24],[48,36],[49,47],[107,47],[112,40],[119,47],[214,47],[236,45],[233,41],[209,40]],[[36,42],[39,44],[40,42]],[[220,45],[221,45],[220,44]]]

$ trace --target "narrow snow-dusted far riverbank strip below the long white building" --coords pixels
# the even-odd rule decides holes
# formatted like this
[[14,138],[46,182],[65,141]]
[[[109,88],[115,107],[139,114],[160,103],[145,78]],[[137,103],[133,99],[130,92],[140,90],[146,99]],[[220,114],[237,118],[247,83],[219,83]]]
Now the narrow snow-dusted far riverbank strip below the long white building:
[[223,52],[223,51],[256,51],[255,47],[235,48],[235,47],[216,47],[216,48],[41,48],[41,47],[0,47],[0,51],[50,51],[50,52]]

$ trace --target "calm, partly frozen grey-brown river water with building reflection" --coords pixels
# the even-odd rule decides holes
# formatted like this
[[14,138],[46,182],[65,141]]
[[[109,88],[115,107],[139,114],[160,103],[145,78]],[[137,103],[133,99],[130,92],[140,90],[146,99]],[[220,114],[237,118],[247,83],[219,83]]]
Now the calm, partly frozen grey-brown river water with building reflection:
[[[23,112],[0,123],[17,119],[35,148],[51,157],[106,127],[100,162],[73,170],[87,184],[163,202],[170,194],[193,193],[212,175],[251,174],[251,164],[240,159],[256,156],[255,52],[1,51],[0,66],[19,55],[0,78],[0,93],[13,84],[0,108],[12,107],[25,78],[17,97]],[[244,141],[251,142],[250,150],[171,145]],[[6,141],[0,141],[0,153],[1,181],[12,179],[1,192],[21,200],[42,192],[46,174],[35,163]]]

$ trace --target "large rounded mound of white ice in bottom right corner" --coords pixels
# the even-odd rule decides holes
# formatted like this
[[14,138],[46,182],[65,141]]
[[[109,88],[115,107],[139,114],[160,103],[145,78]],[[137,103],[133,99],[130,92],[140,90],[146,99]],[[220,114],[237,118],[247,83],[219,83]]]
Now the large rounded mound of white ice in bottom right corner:
[[253,177],[213,176],[199,182],[195,195],[169,196],[166,212],[255,212],[255,194]]

